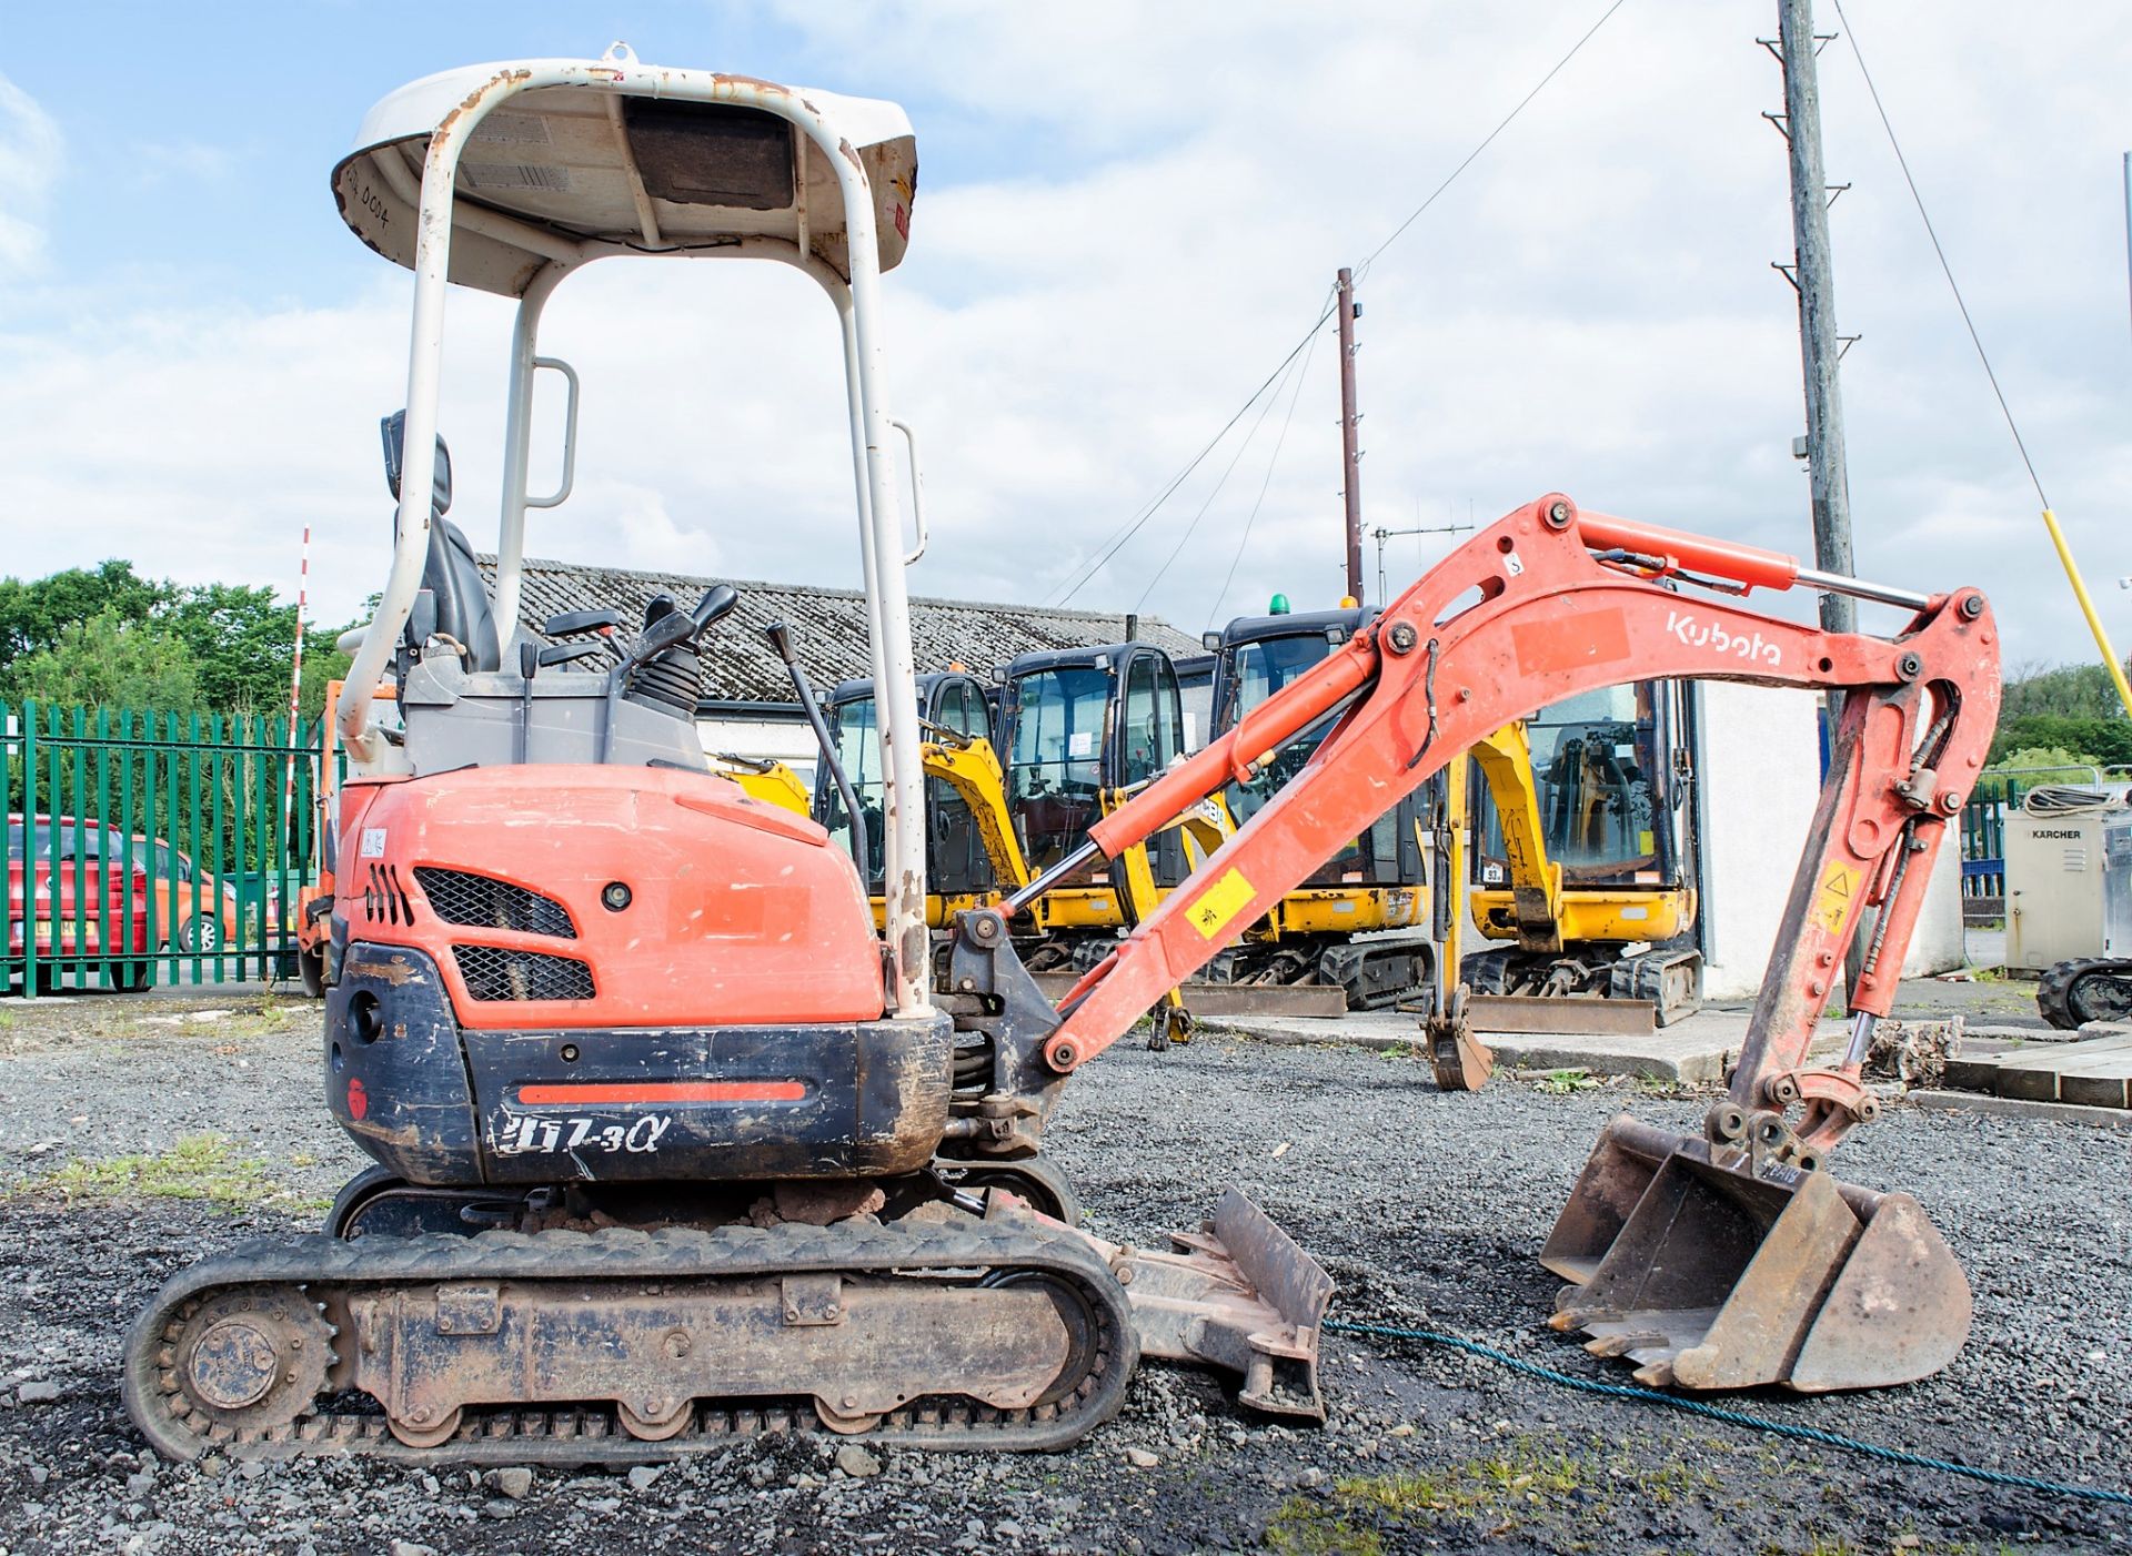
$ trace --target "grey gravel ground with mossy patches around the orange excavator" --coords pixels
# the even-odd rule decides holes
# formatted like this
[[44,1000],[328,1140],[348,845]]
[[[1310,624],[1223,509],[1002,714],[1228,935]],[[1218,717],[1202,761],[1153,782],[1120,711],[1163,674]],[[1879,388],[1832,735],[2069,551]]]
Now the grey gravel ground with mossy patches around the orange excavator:
[[[203,1015],[220,1008],[226,1015]],[[687,1550],[2096,1550],[2123,1509],[1900,1469],[1595,1398],[1452,1349],[1326,1339],[1332,1422],[1251,1420],[1149,1364],[1057,1456],[844,1454],[750,1441],[633,1475],[475,1477],[356,1462],[168,1466],[119,1407],[126,1322],[179,1264],[316,1226],[360,1166],[318,1096],[316,1006],[247,995],[0,1004],[0,1554]],[[1599,1125],[1693,1130],[1708,1098],[1499,1079],[1441,1096],[1418,1059],[1202,1038],[1119,1047],[1055,1121],[1089,1223],[1158,1241],[1239,1183],[1339,1279],[1335,1313],[1627,1381],[1544,1317],[1535,1262]],[[237,1204],[64,1194],[66,1164],[215,1132]],[[245,1166],[258,1162],[258,1166]],[[1957,1362],[1859,1396],[1729,1400],[1970,1464],[2132,1486],[2123,1134],[1895,1108],[1840,1170],[1906,1187],[1976,1290]],[[72,1168],[81,1174],[85,1168]],[[92,1185],[77,1185],[92,1187]],[[1158,1243],[1160,1245],[1160,1243]],[[857,1473],[846,1473],[857,1471]]]

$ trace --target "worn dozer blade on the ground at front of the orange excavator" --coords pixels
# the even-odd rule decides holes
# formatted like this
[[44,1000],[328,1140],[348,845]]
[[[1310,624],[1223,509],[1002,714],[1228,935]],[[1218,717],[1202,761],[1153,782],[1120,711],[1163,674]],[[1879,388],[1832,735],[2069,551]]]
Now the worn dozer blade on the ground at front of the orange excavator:
[[1089,1243],[1126,1287],[1141,1356],[1237,1373],[1245,1405],[1324,1422],[1318,1324],[1332,1277],[1251,1200],[1224,1192],[1200,1232],[1170,1232],[1175,1253]]

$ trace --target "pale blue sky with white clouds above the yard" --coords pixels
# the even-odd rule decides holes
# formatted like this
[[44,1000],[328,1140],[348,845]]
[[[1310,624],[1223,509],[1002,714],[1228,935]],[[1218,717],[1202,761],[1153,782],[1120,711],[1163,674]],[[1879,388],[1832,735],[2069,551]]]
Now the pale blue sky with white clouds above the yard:
[[[1605,11],[1505,4],[215,4],[0,17],[0,573],[377,588],[377,416],[409,279],[326,175],[431,70],[597,55],[906,104],[887,281],[925,439],[925,595],[1055,601]],[[1851,0],[1904,151],[2104,616],[2132,646],[2121,9]],[[1834,4],[1819,17],[1836,26]],[[1627,0],[1362,279],[1364,522],[1588,507],[1810,552],[1774,0]],[[94,62],[94,70],[85,62]],[[1821,62],[1859,571],[1987,584],[2008,659],[2089,650],[1848,40]],[[834,318],[765,266],[612,264],[544,345],[584,375],[542,556],[853,584]],[[492,535],[507,311],[452,301],[454,516]],[[1326,333],[1077,605],[1188,631],[1341,593]],[[552,465],[552,460],[550,460]],[[535,484],[539,482],[535,473]],[[1245,526],[1249,539],[1245,541]],[[1392,537],[1396,590],[1445,537]],[[1375,548],[1364,546],[1371,593]],[[1160,573],[1160,576],[1158,576]],[[1232,573],[1232,576],[1230,576]],[[1145,603],[1143,603],[1145,601]]]

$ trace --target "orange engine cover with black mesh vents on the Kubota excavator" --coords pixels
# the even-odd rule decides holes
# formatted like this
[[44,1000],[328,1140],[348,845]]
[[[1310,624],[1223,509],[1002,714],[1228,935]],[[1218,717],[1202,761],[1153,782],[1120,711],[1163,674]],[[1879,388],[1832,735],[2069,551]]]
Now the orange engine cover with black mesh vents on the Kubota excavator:
[[422,951],[461,1027],[876,1021],[851,857],[710,774],[467,767],[350,782],[335,910]]

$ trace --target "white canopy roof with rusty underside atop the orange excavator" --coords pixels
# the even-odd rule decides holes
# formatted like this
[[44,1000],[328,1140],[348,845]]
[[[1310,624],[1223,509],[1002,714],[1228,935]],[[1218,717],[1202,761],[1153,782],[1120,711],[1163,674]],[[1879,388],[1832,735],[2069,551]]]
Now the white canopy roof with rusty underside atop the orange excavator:
[[[431,132],[499,75],[554,68],[603,70],[625,85],[531,87],[475,126],[452,202],[452,281],[520,296],[552,258],[614,247],[689,252],[748,237],[793,243],[849,279],[844,202],[827,156],[787,119],[716,100],[721,87],[727,96],[789,96],[836,126],[874,192],[881,269],[902,260],[917,136],[898,104],[640,66],[627,51],[599,62],[465,66],[386,96],[362,117],[354,151],[333,168],[341,217],[373,249],[411,269]],[[633,92],[625,79],[646,90]],[[678,83],[689,96],[661,90]]]

